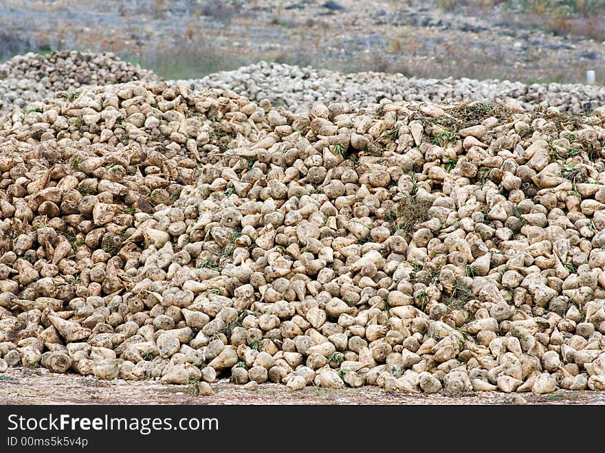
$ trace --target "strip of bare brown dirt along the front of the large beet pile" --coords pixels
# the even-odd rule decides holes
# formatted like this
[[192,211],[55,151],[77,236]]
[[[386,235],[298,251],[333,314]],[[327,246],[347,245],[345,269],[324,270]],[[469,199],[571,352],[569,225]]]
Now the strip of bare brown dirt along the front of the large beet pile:
[[[212,384],[213,397],[195,397],[188,386],[156,381],[100,381],[91,376],[59,375],[45,370],[10,368],[0,375],[0,404],[515,404],[513,395],[497,392],[456,395],[386,393],[377,387],[331,390],[309,386],[290,393],[279,384],[256,391],[229,382]],[[527,404],[603,404],[605,392],[557,390],[522,395]]]

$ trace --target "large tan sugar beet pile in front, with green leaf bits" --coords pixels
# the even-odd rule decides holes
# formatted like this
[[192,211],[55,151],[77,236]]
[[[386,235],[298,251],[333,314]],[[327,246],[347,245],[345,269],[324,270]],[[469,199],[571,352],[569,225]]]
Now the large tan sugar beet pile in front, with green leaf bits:
[[160,81],[16,109],[0,373],[605,390],[604,121],[515,100],[291,113]]

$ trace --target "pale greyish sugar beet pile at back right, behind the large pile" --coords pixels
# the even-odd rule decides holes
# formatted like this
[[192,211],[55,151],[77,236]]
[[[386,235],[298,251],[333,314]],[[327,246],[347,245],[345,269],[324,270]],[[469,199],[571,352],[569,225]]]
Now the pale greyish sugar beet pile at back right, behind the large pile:
[[[142,78],[142,77],[140,77]],[[126,80],[124,80],[126,81]],[[193,88],[231,89],[292,111],[307,111],[316,103],[345,100],[355,107],[369,107],[381,100],[423,102],[494,102],[514,99],[521,107],[557,107],[583,113],[605,105],[605,87],[597,85],[532,83],[470,78],[408,78],[384,72],[342,73],[261,61],[234,71],[222,71],[187,80]]]

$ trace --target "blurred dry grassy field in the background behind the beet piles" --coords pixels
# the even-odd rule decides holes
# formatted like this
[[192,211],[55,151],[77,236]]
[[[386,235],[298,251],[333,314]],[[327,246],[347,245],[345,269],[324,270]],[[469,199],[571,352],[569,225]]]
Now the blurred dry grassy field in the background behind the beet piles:
[[[540,30],[545,13],[532,16],[504,5],[443,10],[438,4],[5,0],[0,58],[38,49],[109,50],[166,78],[199,78],[260,59],[342,71],[523,82],[584,82],[586,69],[601,66],[598,21],[576,21],[575,27],[550,32]],[[515,20],[507,20],[511,17]],[[586,30],[594,40],[585,38]],[[597,71],[597,82],[603,77]]]

